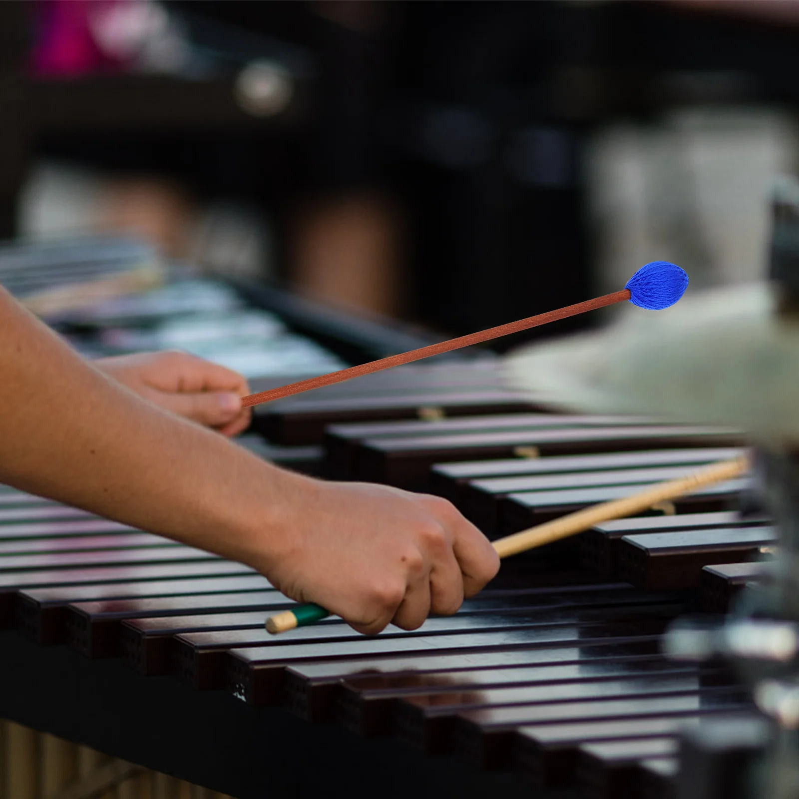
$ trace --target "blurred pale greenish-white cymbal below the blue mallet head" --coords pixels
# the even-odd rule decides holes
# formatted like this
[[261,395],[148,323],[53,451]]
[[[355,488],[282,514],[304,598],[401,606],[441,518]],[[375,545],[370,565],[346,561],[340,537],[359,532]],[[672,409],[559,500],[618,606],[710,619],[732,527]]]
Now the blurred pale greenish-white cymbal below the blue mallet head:
[[505,379],[578,411],[799,439],[799,319],[775,307],[768,284],[746,284],[635,309],[604,332],[511,353]]

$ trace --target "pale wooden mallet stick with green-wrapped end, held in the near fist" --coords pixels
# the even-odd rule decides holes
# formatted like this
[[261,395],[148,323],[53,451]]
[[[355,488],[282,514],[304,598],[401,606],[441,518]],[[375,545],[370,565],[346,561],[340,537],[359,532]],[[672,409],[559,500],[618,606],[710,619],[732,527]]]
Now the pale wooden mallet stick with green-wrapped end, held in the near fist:
[[[699,488],[739,477],[748,468],[749,459],[745,455],[733,460],[713,463],[704,469],[695,471],[692,475],[667,480],[665,483],[657,483],[638,494],[592,505],[583,508],[582,511],[575,511],[561,516],[559,519],[553,519],[551,522],[531,527],[529,530],[497,539],[491,546],[495,548],[500,558],[519,555],[520,552],[527,552],[535,547],[543,547],[544,544],[582,533],[589,530],[590,527],[594,527],[595,524],[609,522],[610,519],[623,519],[626,516],[646,511],[658,503],[690,494]],[[266,620],[266,629],[272,634],[284,633],[295,627],[318,622],[320,618],[328,615],[330,615],[328,611],[319,605],[312,603],[299,605],[294,610],[286,610],[283,613],[270,616]]]

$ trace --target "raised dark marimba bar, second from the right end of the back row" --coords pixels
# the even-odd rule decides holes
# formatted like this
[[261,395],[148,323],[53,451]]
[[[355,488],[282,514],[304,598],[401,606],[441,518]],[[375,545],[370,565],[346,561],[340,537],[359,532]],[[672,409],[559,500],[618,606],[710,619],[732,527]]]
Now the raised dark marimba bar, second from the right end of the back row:
[[646,590],[695,588],[703,566],[757,559],[776,539],[771,527],[626,535],[618,547],[618,574]]

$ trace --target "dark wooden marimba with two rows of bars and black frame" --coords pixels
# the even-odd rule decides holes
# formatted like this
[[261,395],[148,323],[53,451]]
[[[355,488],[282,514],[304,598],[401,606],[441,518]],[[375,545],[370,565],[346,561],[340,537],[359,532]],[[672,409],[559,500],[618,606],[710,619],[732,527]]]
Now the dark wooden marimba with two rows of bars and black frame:
[[[293,467],[447,496],[491,538],[743,446],[735,430],[554,413],[490,363],[320,389],[260,407],[252,429]],[[337,618],[270,636],[264,619],[292,602],[248,567],[5,489],[0,710],[240,799],[673,797],[680,730],[753,712],[728,668],[660,649],[678,615],[725,612],[767,574],[774,533],[748,487],[510,559],[455,616],[374,638]]]

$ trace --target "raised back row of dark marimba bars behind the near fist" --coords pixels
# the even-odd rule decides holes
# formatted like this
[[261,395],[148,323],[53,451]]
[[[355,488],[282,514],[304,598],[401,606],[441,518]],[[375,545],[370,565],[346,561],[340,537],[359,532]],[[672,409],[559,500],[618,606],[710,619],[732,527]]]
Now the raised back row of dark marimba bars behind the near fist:
[[[446,496],[491,539],[740,452],[738,431],[539,410],[535,400],[497,388],[491,364],[456,364],[399,369],[270,403],[256,408],[255,427],[284,447],[324,444],[328,477]],[[702,565],[748,563],[773,543],[751,498],[745,516],[686,517],[736,507],[747,487],[745,479],[709,487],[659,509],[678,519],[609,523],[578,545],[547,552],[644,587],[690,587]],[[734,588],[761,568],[728,568],[706,579]]]

